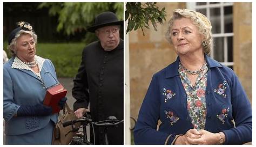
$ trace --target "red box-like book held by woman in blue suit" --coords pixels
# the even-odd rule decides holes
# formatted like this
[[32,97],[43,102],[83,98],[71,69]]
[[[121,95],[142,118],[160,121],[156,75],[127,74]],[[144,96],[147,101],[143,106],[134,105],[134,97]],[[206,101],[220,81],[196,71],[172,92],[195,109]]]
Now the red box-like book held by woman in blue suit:
[[64,98],[67,92],[68,91],[64,89],[62,84],[53,86],[46,91],[44,105],[52,107],[52,114],[60,111],[58,106],[59,100]]

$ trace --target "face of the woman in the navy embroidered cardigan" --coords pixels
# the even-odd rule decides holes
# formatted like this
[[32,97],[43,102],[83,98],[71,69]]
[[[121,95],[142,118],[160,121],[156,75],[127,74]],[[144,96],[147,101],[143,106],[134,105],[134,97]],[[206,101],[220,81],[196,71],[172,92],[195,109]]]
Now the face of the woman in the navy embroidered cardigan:
[[189,18],[174,20],[171,31],[173,47],[178,55],[203,52],[203,35]]

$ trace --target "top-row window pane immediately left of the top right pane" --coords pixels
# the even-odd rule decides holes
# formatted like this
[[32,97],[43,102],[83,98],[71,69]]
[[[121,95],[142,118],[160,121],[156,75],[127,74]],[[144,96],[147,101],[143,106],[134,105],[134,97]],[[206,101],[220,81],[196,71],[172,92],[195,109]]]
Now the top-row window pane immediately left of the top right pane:
[[220,8],[210,9],[210,21],[212,23],[212,33],[220,33]]

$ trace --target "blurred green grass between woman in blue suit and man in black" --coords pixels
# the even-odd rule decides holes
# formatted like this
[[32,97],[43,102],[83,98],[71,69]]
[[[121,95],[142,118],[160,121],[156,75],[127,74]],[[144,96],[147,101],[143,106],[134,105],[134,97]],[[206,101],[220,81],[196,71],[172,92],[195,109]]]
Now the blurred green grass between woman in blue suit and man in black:
[[84,47],[84,43],[37,43],[36,54],[53,62],[58,77],[75,77]]

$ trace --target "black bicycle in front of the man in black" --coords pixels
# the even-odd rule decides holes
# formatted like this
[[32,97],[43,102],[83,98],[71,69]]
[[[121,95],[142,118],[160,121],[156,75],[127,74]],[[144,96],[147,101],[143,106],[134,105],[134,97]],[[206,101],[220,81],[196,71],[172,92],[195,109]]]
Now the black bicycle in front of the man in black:
[[[73,124],[81,122],[80,127],[75,128]],[[118,124],[123,123],[124,120],[117,120],[115,116],[109,116],[106,120],[93,122],[90,119],[90,114],[87,112],[86,116],[83,116],[81,119],[66,121],[63,123],[63,127],[72,125],[72,132],[76,132],[79,128],[82,128],[82,131],[78,131],[76,135],[71,139],[70,145],[91,145],[95,144],[95,131],[94,126],[104,127],[104,144],[109,144],[109,140],[107,139],[107,129],[109,127],[117,127]],[[86,134],[86,126],[92,126],[93,132],[93,143],[88,141]]]

